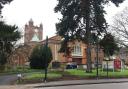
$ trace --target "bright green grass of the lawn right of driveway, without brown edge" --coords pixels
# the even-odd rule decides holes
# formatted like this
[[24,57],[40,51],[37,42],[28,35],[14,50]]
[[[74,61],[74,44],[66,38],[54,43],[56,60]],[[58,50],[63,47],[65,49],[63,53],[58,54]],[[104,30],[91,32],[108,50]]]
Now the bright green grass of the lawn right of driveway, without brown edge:
[[[64,72],[60,72],[60,71],[50,71],[48,73],[48,78],[61,78],[63,75],[73,75],[73,76],[77,76],[77,77],[85,77],[85,78],[89,78],[89,77],[96,77],[96,70],[93,70],[92,73],[86,73],[85,70],[77,70],[77,69],[70,69],[70,70],[65,70]],[[107,72],[106,71],[100,71],[99,70],[99,76],[100,77],[104,77],[106,78],[107,76]],[[118,71],[118,72],[108,72],[108,76],[109,77],[113,77],[113,78],[120,78],[120,77],[128,77],[128,70],[124,70],[124,71]],[[31,72],[31,73],[26,73],[24,79],[40,79],[40,78],[44,78],[44,73],[42,72]]]

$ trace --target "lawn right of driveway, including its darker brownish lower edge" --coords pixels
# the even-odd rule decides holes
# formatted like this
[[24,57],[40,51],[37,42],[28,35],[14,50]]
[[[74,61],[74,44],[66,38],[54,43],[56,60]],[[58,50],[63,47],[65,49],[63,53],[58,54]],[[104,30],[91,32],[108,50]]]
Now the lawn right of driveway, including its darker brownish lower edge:
[[[29,72],[24,73],[23,82],[27,81],[26,83],[29,83],[29,81],[32,83],[33,81],[40,81],[44,78],[44,72],[42,71],[35,71],[35,72]],[[84,79],[84,78],[96,78],[96,70],[93,70],[92,73],[86,73],[86,70],[79,70],[79,69],[69,69],[65,71],[59,71],[59,70],[52,70],[48,72],[47,79],[48,81],[57,81],[59,79],[65,79],[65,76],[68,76],[68,79],[71,80],[73,77],[77,77],[76,79]],[[128,70],[124,71],[116,71],[108,72],[109,78],[128,78]],[[107,72],[101,71],[99,69],[99,78],[107,78]]]

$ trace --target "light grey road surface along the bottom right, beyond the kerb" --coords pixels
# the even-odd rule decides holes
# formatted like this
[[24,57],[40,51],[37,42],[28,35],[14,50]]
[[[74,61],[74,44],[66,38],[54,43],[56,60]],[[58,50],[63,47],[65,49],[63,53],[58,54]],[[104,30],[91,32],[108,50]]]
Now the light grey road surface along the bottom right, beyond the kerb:
[[73,85],[58,87],[41,87],[34,89],[128,89],[128,83],[107,83],[107,84],[90,84],[90,85]]

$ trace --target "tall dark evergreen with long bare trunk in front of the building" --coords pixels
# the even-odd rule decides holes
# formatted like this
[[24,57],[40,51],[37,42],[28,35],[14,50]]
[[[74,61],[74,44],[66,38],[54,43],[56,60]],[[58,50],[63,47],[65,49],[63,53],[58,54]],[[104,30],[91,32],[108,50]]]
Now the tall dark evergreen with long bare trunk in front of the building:
[[91,72],[91,32],[97,35],[106,32],[104,5],[109,1],[118,6],[124,0],[58,0],[55,7],[55,12],[62,14],[56,24],[57,34],[66,40],[64,42],[79,39],[87,44],[87,72]]

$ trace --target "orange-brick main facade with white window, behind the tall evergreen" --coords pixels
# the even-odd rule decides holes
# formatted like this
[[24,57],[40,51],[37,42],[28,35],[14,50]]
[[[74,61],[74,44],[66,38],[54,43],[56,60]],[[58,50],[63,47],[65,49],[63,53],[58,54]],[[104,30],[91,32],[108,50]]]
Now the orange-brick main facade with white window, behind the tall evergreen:
[[[87,55],[86,55],[86,49],[87,45],[84,44],[81,41],[75,40],[73,42],[68,42],[68,48],[70,51],[70,54],[66,55],[64,52],[59,52],[61,48],[61,41],[62,38],[60,36],[53,36],[49,38],[48,45],[52,50],[53,54],[53,60],[52,61],[58,61],[61,63],[69,63],[69,62],[75,62],[77,64],[86,64],[87,63]],[[45,40],[42,41],[42,43],[45,43]],[[97,57],[97,49],[95,46],[91,47],[91,60],[92,63],[96,63],[96,57]],[[102,63],[102,60],[104,59],[104,52],[103,49],[98,49],[98,62],[99,64]]]

